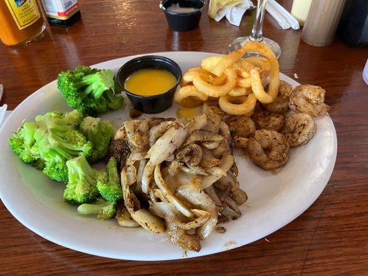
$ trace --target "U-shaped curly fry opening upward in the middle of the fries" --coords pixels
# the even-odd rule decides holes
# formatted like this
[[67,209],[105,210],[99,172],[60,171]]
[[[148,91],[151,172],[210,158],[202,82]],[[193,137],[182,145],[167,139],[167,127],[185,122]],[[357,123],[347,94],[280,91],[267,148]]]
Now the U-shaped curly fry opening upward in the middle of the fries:
[[234,70],[226,69],[224,75],[227,77],[226,83],[222,86],[215,86],[202,79],[200,75],[193,75],[193,85],[197,90],[209,97],[222,97],[235,87],[236,73]]

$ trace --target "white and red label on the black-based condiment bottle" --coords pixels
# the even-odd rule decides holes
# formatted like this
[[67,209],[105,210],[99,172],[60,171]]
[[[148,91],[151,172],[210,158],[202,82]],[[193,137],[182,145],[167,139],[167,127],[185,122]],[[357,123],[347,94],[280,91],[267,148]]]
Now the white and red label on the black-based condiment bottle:
[[78,0],[42,0],[46,16],[66,20],[79,10]]

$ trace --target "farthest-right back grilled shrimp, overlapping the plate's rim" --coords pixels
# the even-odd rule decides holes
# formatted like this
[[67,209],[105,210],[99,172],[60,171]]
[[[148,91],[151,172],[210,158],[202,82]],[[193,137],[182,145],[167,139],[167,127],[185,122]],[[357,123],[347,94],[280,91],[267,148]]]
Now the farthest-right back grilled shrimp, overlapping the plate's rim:
[[326,90],[319,86],[302,84],[291,91],[289,108],[298,113],[307,113],[312,117],[324,115],[329,110],[325,101]]

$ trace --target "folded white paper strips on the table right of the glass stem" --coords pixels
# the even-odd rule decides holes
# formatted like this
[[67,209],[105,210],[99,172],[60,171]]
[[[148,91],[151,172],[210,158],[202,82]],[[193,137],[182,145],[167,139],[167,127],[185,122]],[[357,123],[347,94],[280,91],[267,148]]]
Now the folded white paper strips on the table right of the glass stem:
[[298,20],[287,10],[282,8],[275,0],[267,1],[266,10],[276,21],[278,21],[282,29],[293,28],[294,30],[298,30],[300,28]]

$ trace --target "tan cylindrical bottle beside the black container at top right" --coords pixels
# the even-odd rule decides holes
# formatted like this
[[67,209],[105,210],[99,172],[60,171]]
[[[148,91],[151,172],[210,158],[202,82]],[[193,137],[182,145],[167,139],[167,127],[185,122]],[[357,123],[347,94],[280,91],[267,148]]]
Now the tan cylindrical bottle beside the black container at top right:
[[311,46],[333,42],[346,0],[313,0],[302,30],[302,40]]

